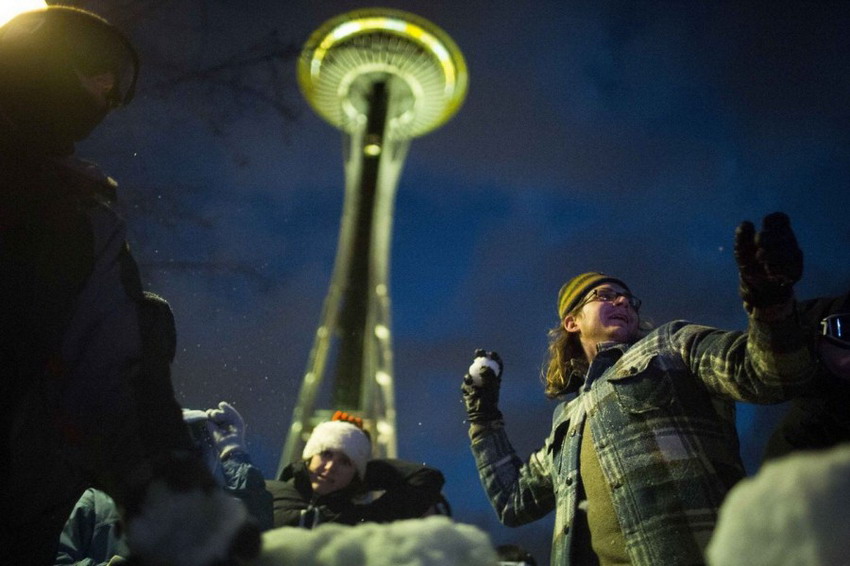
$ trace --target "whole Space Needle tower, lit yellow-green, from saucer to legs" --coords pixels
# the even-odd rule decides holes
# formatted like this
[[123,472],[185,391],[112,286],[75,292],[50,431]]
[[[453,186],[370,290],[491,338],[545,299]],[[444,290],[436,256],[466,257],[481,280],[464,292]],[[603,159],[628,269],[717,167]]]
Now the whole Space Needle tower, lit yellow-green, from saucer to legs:
[[[374,456],[396,455],[389,257],[395,194],[410,140],[457,112],[463,56],[434,24],[355,10],[316,30],[298,61],[313,109],[343,132],[345,200],[330,287],[278,466],[300,458],[335,409],[363,418]],[[320,394],[332,373],[330,404]]]

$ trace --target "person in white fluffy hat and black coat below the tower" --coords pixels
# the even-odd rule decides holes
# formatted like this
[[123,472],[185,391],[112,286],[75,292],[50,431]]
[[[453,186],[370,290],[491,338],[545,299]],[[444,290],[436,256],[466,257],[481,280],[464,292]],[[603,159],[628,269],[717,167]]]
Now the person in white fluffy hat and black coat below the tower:
[[[396,459],[372,459],[372,443],[358,417],[337,411],[313,429],[301,460],[279,481],[267,481],[274,497],[275,527],[313,528],[421,517],[440,501],[443,474]],[[376,498],[371,492],[382,491]]]

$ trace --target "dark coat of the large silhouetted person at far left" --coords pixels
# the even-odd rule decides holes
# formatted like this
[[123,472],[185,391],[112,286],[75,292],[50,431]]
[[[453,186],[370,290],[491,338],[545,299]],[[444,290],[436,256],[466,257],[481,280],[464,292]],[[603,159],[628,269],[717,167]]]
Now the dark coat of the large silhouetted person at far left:
[[10,564],[36,566],[52,564],[86,487],[132,507],[152,470],[191,441],[164,352],[171,311],[142,291],[125,224],[107,202],[114,182],[5,134],[0,548]]

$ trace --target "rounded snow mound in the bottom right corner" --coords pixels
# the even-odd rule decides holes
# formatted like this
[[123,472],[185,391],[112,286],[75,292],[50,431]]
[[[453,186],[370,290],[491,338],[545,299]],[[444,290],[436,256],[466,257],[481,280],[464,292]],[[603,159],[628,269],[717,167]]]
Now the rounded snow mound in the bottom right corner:
[[708,546],[714,566],[850,562],[850,444],[767,463],[735,486]]

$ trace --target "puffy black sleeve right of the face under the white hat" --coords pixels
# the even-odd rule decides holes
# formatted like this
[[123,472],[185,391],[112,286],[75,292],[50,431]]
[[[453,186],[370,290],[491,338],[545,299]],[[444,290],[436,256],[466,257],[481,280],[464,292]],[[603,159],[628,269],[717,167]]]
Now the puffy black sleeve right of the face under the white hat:
[[358,505],[364,521],[390,522],[421,517],[440,499],[445,479],[428,466],[395,459],[374,459],[366,467],[366,488],[383,491]]

